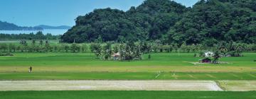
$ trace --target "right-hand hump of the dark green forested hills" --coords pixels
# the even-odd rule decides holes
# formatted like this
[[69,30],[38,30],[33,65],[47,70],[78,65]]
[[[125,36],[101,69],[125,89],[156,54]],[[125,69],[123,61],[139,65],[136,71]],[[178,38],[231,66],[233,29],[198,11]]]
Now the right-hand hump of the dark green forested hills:
[[168,42],[213,45],[220,41],[256,43],[256,1],[198,1],[169,30]]

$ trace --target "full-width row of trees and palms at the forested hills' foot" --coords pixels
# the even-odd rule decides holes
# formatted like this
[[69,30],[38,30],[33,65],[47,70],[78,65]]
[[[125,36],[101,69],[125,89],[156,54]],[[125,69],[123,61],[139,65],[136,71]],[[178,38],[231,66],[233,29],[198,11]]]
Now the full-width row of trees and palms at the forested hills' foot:
[[[106,42],[106,43],[50,43],[48,40],[21,40],[16,43],[0,43],[0,52],[93,52],[98,59],[111,59],[112,54],[121,54],[122,60],[142,59],[142,54],[152,52],[195,52],[203,57],[204,52],[213,51],[223,56],[242,57],[242,52],[256,52],[256,45],[236,42],[218,42],[213,47],[197,45],[170,44],[160,42]],[[197,55],[195,55],[196,57]]]

